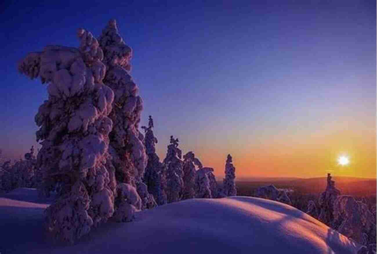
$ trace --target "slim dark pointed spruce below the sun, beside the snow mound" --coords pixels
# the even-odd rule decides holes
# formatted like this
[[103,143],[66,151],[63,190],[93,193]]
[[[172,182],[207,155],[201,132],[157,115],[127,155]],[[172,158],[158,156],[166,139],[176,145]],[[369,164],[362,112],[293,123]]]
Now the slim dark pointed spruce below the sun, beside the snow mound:
[[327,174],[327,187],[326,190],[320,195],[319,203],[319,216],[318,220],[326,225],[332,226],[334,216],[333,207],[334,201],[340,195],[340,190],[335,187],[335,181],[331,180],[331,174]]

